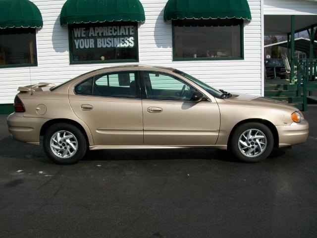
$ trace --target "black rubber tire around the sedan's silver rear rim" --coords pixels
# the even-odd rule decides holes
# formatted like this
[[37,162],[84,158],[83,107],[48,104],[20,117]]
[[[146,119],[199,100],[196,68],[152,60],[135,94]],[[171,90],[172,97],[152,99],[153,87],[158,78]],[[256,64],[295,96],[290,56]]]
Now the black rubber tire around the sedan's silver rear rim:
[[[55,151],[55,153],[56,153],[55,154],[53,152],[53,148],[51,148],[51,138],[58,131],[66,131],[66,134],[62,134],[62,135],[73,136],[71,138],[71,140],[72,140],[71,142],[72,142],[73,145],[77,144],[77,147],[76,147],[77,150],[76,151],[73,150],[71,147],[69,147],[70,151],[71,152],[75,152],[75,153],[73,155],[71,155],[69,153],[69,156],[67,158],[58,157],[56,154],[61,153],[61,151],[60,152]],[[70,133],[67,133],[67,132],[70,132]],[[76,140],[77,140],[77,143],[76,143]],[[66,144],[67,142],[64,143],[65,140],[61,141],[61,142],[65,146],[63,148],[68,148],[68,147],[66,147],[67,146],[67,144]],[[58,145],[58,143],[57,143],[57,145]],[[69,143],[68,143],[68,145],[69,145]],[[62,145],[60,145],[60,146],[62,147]],[[71,164],[75,164],[75,163],[79,162],[84,157],[84,155],[86,154],[86,151],[87,151],[87,141],[86,141],[86,138],[85,138],[84,134],[75,125],[68,124],[68,123],[56,123],[56,124],[51,125],[47,129],[46,133],[44,134],[43,148],[44,148],[44,151],[45,151],[46,155],[54,163],[59,164],[59,165],[71,165]]]

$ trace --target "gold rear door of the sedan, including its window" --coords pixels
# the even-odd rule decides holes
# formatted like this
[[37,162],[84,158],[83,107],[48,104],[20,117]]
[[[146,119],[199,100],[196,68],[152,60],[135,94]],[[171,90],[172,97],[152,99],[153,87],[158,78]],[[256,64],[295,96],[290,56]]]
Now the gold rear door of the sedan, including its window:
[[95,75],[69,89],[69,103],[95,145],[142,145],[139,71]]

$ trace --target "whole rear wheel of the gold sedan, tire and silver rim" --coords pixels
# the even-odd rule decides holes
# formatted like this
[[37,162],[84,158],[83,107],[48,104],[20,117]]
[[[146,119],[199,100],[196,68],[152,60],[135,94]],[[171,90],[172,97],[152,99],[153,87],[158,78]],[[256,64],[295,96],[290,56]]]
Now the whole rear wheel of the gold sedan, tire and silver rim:
[[47,156],[61,165],[75,164],[87,150],[84,134],[76,126],[57,123],[48,128],[43,138],[43,147]]

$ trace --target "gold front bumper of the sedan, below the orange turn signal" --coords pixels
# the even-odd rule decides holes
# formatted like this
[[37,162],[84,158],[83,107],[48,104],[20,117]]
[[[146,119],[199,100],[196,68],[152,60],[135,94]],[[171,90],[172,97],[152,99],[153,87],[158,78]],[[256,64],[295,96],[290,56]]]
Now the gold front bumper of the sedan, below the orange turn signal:
[[279,138],[279,148],[306,142],[309,134],[309,123],[303,120],[300,123],[293,122],[290,125],[276,126]]

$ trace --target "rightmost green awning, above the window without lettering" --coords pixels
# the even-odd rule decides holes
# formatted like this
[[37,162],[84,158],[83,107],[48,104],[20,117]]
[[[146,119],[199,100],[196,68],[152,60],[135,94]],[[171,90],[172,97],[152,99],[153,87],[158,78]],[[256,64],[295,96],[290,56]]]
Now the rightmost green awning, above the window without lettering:
[[247,0],[168,0],[164,20],[225,19],[251,20]]

